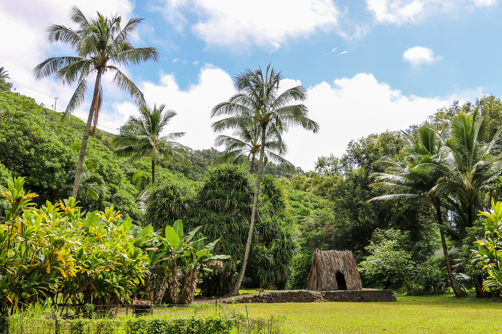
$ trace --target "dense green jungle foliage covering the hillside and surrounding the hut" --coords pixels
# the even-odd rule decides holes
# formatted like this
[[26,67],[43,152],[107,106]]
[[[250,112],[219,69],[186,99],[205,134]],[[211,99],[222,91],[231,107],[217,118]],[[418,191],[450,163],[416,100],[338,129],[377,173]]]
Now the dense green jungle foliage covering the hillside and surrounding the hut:
[[[484,117],[485,137],[491,138],[502,124],[502,102],[487,96],[438,110],[430,125],[445,143],[453,140],[459,114],[467,121]],[[70,118],[60,126],[59,119],[33,99],[0,92],[0,177],[23,177],[25,189],[39,195],[32,199],[38,207],[47,207],[46,201],[65,203],[73,186],[83,122]],[[412,125],[405,132],[413,137],[420,129]],[[392,193],[370,185],[377,181],[375,173],[388,168],[384,157],[407,163],[407,138],[403,132],[387,131],[352,140],[345,154],[319,157],[309,173],[300,168],[287,172],[269,162],[244,287],[305,288],[312,253],[320,248],[353,251],[364,287],[410,294],[446,291],[450,285],[441,230],[458,285],[473,290],[476,281],[486,281],[483,265],[471,263],[475,242],[485,231],[476,213],[498,200],[500,177],[483,181],[468,206],[460,204],[460,190],[445,195],[443,225],[426,197],[368,202]],[[178,219],[187,230],[201,226],[208,241],[219,239],[213,253],[231,257],[222,260],[222,268],[197,273],[198,287],[206,296],[227,294],[247,238],[255,176],[245,166],[213,165],[222,152],[211,148],[187,154],[191,164],[160,164],[155,171],[158,186],[152,187],[150,161],[124,164],[126,159],[110,150],[113,139],[99,131],[89,138],[77,198],[82,214],[113,207],[124,221],[142,228],[152,225],[156,233]],[[8,208],[5,198],[0,206]],[[471,218],[465,218],[467,210]]]

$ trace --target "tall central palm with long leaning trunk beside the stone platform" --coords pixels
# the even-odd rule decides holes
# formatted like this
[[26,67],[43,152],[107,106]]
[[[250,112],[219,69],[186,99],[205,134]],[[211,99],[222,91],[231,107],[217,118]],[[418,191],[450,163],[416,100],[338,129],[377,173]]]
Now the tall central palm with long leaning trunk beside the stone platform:
[[306,98],[305,89],[302,86],[296,86],[278,94],[281,79],[281,72],[271,68],[270,64],[267,66],[265,73],[261,67],[255,71],[246,69],[234,79],[234,85],[238,93],[232,96],[227,102],[216,105],[211,112],[211,117],[230,115],[230,117],[212,124],[212,129],[215,132],[221,132],[226,129],[238,130],[249,123],[257,124],[262,130],[260,160],[256,175],[255,197],[253,200],[251,221],[249,223],[249,233],[239,278],[232,292],[234,295],[239,292],[253,239],[260,180],[265,157],[265,144],[267,142],[267,130],[270,129],[269,131],[272,133],[282,134],[283,132],[287,132],[291,126],[301,125],[304,129],[314,133],[319,131],[319,125],[307,118],[308,109],[305,105],[289,105],[292,100],[304,101]]

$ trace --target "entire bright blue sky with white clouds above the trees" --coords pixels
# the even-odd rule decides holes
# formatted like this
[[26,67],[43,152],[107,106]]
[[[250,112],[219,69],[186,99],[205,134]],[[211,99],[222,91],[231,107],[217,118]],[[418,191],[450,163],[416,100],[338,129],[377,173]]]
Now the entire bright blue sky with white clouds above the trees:
[[[386,129],[425,121],[454,99],[500,96],[501,9],[498,0],[163,0],[26,1],[0,7],[0,28],[11,31],[0,51],[14,87],[58,109],[72,94],[53,80],[35,82],[31,69],[66,55],[44,41],[49,24],[71,26],[68,9],[87,15],[145,18],[136,46],[153,46],[162,60],[129,69],[147,101],[165,103],[178,116],[169,132],[181,142],[209,148],[210,109],[234,92],[231,77],[272,63],[302,84],[319,135],[299,129],[287,136],[287,158],[309,170],[320,155],[341,155],[347,143]],[[104,83],[99,127],[116,132],[137,111]],[[77,111],[85,117],[88,104]]]

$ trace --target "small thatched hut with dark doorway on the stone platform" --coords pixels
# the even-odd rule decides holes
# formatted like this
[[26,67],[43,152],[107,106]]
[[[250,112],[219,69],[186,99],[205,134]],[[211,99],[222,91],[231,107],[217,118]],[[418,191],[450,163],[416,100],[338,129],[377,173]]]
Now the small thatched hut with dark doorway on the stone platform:
[[319,250],[312,255],[309,290],[362,290],[361,278],[350,250]]

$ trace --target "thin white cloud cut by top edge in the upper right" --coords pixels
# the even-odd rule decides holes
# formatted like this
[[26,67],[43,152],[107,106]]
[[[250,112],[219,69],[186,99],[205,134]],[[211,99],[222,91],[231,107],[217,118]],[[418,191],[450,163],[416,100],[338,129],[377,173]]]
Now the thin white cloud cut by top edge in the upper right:
[[470,7],[496,5],[498,0],[366,0],[366,8],[378,23],[419,22],[435,14],[469,11]]

